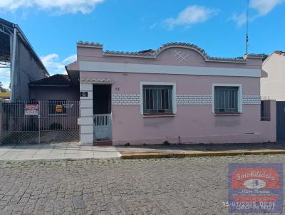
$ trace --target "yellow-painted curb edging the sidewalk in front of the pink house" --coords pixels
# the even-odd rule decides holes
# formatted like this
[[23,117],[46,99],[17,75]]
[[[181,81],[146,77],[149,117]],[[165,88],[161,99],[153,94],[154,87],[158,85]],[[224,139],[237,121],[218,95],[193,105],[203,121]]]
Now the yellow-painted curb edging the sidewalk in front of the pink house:
[[147,159],[147,158],[173,158],[173,157],[212,157],[212,156],[237,156],[260,154],[285,154],[285,150],[250,150],[250,151],[217,151],[217,152],[178,152],[178,153],[132,153],[120,152],[121,159]]

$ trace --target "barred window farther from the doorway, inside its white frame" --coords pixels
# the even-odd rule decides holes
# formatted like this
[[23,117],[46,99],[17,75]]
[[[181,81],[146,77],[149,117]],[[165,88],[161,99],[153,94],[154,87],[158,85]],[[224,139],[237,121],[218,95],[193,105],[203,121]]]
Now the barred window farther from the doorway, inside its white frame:
[[239,87],[214,87],[214,112],[233,113],[239,111]]

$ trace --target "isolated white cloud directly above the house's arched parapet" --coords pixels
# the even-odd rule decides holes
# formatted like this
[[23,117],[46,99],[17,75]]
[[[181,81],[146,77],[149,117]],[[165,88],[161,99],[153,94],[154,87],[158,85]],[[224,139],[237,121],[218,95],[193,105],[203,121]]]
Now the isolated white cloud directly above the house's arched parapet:
[[207,9],[204,6],[192,5],[187,6],[181,11],[176,18],[165,20],[167,26],[172,29],[175,26],[190,26],[195,23],[207,21],[211,16],[217,14],[215,9]]

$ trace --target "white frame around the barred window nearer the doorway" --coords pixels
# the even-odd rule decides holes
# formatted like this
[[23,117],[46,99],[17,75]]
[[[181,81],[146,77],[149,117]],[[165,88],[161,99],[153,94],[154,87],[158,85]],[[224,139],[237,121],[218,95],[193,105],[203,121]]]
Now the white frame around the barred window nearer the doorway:
[[176,114],[177,103],[176,103],[176,83],[170,82],[140,82],[140,114],[143,115],[143,85],[170,85],[172,86],[172,112]]

